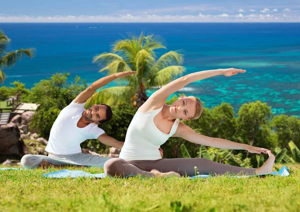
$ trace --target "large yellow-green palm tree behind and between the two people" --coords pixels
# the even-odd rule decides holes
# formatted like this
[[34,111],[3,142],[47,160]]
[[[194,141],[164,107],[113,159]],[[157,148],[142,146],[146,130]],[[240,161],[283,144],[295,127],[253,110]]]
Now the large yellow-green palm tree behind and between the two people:
[[112,45],[112,53],[104,52],[96,55],[93,62],[102,66],[99,72],[113,74],[122,71],[136,71],[136,74],[120,79],[121,86],[104,88],[95,93],[88,105],[97,102],[115,105],[131,98],[133,106],[140,107],[147,100],[147,90],[161,87],[178,75],[185,68],[180,66],[183,55],[178,51],[169,51],[159,59],[155,59],[154,50],[166,48],[159,36],[129,35],[128,38],[117,40]]

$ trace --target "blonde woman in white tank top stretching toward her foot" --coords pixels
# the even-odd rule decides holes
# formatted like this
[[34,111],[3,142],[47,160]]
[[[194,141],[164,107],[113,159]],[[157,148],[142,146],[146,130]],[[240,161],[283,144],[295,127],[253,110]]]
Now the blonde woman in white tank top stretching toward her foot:
[[[270,173],[275,157],[269,150],[200,135],[179,122],[179,119],[187,121],[200,117],[202,104],[197,98],[181,96],[171,105],[164,103],[172,93],[191,82],[216,75],[228,77],[245,72],[245,70],[235,68],[199,71],[178,78],[154,92],[134,115],[128,127],[119,158],[105,162],[105,174],[118,177],[128,175],[144,177],[176,175],[180,177],[181,175],[194,175],[195,169],[199,174],[212,175]],[[158,148],[171,136],[209,147],[247,150],[257,154],[264,153],[268,154],[269,158],[262,167],[257,169],[219,164],[204,158],[161,159]]]

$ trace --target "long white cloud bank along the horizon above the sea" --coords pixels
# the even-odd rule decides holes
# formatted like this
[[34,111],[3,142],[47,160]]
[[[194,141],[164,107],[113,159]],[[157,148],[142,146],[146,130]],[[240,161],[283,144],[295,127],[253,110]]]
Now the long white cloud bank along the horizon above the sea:
[[201,14],[198,15],[54,15],[54,16],[11,16],[0,15],[0,22],[300,22],[298,14]]

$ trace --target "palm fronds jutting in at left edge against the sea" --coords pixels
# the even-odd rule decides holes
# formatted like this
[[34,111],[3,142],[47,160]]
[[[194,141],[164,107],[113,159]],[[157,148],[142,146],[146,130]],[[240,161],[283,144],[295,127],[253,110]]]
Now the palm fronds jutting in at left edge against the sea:
[[6,52],[5,49],[10,39],[0,30],[0,83],[3,83],[5,74],[1,70],[2,68],[9,68],[15,64],[15,62],[22,57],[23,54],[29,58],[33,56],[34,48],[19,49],[15,51]]

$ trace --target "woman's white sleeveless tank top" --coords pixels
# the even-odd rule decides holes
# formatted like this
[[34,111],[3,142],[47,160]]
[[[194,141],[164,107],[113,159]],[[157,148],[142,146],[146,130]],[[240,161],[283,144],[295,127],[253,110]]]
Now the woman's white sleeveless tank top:
[[140,113],[137,110],[128,127],[119,158],[126,161],[161,159],[158,150],[160,145],[174,135],[179,124],[179,119],[176,119],[169,134],[158,130],[153,120],[162,108],[163,105],[156,110],[145,113]]

